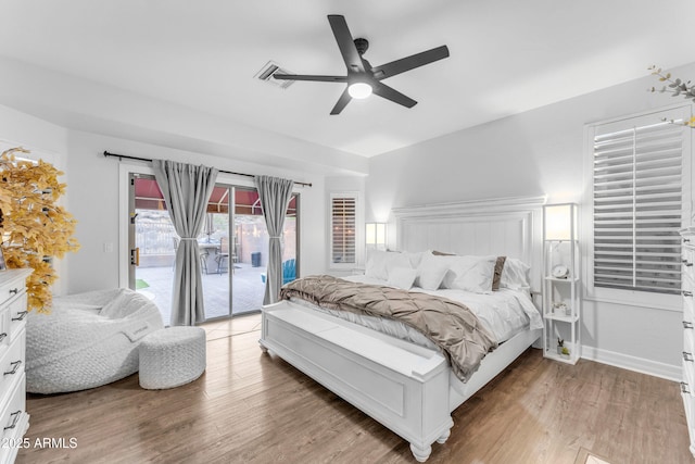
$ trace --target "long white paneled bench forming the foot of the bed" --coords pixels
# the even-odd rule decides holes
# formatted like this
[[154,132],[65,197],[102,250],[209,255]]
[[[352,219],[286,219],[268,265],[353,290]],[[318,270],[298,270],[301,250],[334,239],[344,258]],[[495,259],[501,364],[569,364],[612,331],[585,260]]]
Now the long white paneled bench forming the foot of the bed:
[[419,462],[448,438],[451,369],[439,352],[288,301],[263,309],[260,343],[403,437]]

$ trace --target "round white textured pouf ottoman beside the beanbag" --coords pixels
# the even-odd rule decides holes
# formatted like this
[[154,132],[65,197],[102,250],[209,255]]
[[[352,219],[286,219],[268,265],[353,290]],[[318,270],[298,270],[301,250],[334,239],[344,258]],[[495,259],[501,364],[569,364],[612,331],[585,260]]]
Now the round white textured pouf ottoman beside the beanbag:
[[205,330],[169,327],[140,342],[140,387],[148,390],[189,384],[205,371]]

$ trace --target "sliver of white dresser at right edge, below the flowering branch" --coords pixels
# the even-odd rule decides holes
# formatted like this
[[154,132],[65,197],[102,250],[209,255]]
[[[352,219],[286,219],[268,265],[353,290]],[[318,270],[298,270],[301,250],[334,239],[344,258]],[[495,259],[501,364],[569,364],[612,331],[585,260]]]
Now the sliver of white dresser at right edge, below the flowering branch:
[[687,431],[691,437],[691,453],[695,456],[695,311],[693,291],[695,291],[695,228],[681,230],[682,247],[682,294],[683,294],[683,379],[681,394],[685,405]]

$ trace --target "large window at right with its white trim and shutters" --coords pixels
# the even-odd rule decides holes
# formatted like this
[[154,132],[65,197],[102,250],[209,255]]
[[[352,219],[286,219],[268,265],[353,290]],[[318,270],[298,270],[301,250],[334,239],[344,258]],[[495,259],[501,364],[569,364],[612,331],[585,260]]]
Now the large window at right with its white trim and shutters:
[[681,311],[678,229],[692,223],[694,130],[682,122],[691,110],[585,127],[586,299]]

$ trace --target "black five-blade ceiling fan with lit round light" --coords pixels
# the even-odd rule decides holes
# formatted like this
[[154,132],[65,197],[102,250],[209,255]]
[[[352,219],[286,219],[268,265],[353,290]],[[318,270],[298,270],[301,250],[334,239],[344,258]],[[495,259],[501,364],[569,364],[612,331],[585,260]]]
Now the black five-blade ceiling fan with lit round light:
[[413,108],[417,104],[417,101],[387,86],[381,80],[448,57],[446,46],[441,46],[372,67],[363,57],[369,48],[369,41],[363,38],[353,40],[345,17],[342,15],[329,14],[328,22],[333,30],[333,36],[336,36],[340,53],[343,55],[343,61],[348,67],[348,75],[312,76],[304,74],[274,74],[273,77],[283,80],[315,80],[348,84],[348,87],[343,90],[343,93],[338,99],[338,103],[336,103],[330,114],[340,114],[353,98],[363,99],[369,97],[371,93],[402,104],[403,106]]

